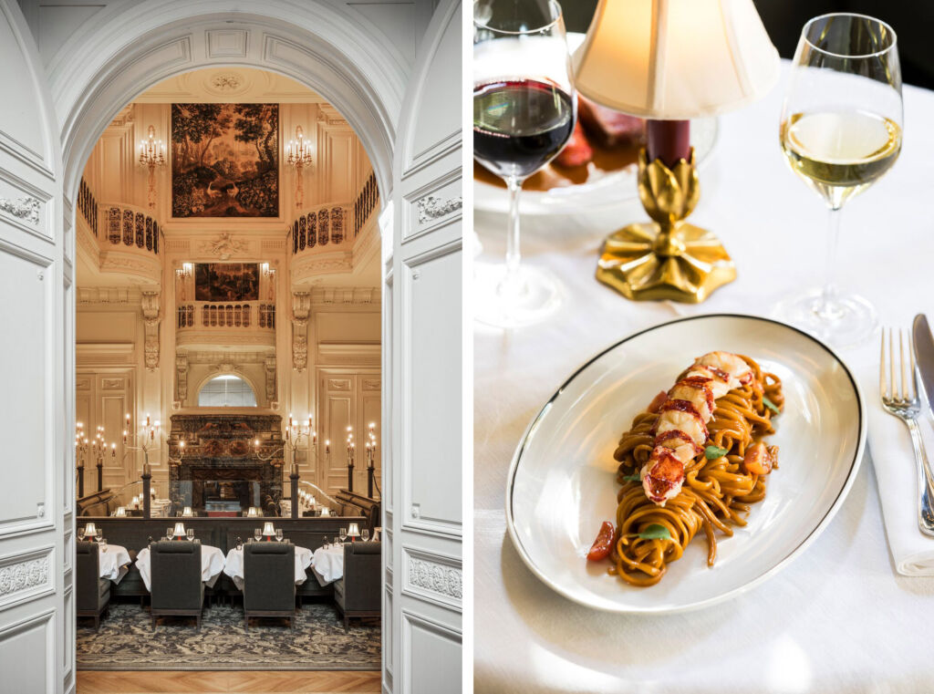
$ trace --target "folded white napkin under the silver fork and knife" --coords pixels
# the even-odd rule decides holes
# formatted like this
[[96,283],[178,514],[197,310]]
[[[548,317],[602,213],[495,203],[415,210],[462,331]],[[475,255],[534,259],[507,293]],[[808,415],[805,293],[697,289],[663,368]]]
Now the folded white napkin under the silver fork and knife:
[[[869,410],[869,446],[879,484],[888,547],[899,574],[934,575],[934,538],[918,530],[918,485],[912,437],[899,418],[885,412],[879,393],[879,365],[863,369],[862,391]],[[919,384],[920,385],[920,384]],[[922,401],[923,402],[923,401]],[[924,403],[923,403],[924,404]],[[918,418],[929,460],[934,431],[927,411]]]

